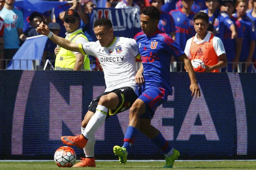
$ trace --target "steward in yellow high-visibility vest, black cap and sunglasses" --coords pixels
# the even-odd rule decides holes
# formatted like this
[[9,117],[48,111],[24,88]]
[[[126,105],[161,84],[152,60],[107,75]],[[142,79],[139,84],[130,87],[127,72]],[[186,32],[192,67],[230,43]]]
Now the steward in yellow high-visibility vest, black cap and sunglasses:
[[[72,43],[84,44],[88,42],[87,37],[79,28],[79,14],[74,9],[68,9],[64,15],[64,26],[66,28],[65,39]],[[65,48],[56,47],[55,50],[55,70],[90,70],[90,60],[87,55],[69,51]]]

